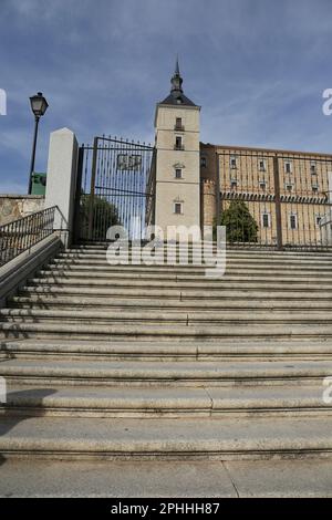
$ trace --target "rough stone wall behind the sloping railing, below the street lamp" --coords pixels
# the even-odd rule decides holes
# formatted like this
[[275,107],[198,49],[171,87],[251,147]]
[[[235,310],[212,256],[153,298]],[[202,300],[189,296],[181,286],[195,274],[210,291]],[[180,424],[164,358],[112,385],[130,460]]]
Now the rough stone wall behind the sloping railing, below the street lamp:
[[0,226],[44,208],[42,195],[0,195]]

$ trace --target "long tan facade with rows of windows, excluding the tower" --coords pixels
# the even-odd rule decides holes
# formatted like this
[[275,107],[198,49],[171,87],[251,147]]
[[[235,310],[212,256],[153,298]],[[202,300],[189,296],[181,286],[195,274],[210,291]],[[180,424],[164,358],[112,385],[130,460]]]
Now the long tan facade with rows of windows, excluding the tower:
[[324,245],[331,235],[332,155],[201,143],[200,178],[203,225],[242,200],[258,241],[276,245],[278,191],[283,245]]

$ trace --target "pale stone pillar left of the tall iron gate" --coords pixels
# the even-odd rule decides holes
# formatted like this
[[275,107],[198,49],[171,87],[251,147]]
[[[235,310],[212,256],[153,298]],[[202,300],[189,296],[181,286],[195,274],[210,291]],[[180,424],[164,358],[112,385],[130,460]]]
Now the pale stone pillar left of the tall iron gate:
[[58,206],[54,230],[61,230],[65,247],[71,245],[76,191],[79,145],[69,128],[50,136],[45,208]]

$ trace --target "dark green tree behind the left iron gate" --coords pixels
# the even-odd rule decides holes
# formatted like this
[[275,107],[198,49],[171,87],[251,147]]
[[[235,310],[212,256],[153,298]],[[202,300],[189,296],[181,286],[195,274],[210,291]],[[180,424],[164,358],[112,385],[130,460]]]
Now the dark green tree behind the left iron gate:
[[[90,200],[90,195],[81,196],[81,227],[86,236],[89,228]],[[107,229],[111,226],[116,226],[118,223],[121,223],[121,221],[116,206],[95,195],[93,198],[93,238],[101,241],[106,240]]]

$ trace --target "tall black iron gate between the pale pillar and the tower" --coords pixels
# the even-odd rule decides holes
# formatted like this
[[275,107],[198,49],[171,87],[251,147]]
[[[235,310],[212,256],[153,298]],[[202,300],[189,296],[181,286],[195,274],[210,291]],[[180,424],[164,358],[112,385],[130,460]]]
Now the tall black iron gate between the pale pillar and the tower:
[[95,137],[80,148],[75,239],[105,241],[122,225],[131,239],[143,238],[154,208],[154,148],[145,143]]

